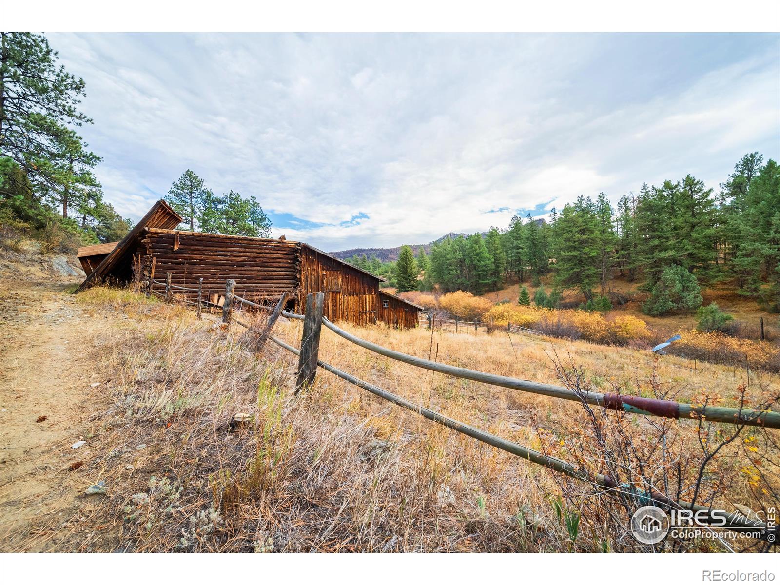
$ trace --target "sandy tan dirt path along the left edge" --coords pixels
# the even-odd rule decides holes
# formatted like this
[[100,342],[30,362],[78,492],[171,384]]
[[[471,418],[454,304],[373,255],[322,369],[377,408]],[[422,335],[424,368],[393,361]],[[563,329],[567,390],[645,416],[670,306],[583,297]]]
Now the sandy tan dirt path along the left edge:
[[108,404],[105,384],[91,386],[103,382],[85,341],[97,325],[71,284],[0,279],[0,551],[62,550],[99,505],[70,469],[90,459],[89,420]]

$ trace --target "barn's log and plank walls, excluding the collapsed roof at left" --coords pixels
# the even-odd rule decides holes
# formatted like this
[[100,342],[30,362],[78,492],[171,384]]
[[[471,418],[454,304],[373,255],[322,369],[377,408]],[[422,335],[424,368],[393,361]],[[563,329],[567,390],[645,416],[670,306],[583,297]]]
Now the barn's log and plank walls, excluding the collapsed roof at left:
[[[236,281],[235,293],[265,302],[290,293],[295,310],[303,311],[307,293],[324,293],[324,316],[331,321],[396,327],[416,327],[417,309],[379,291],[379,278],[306,244],[279,239],[224,236],[172,229],[147,228],[133,250],[141,278],[197,288],[203,278],[203,298],[225,294],[225,280]],[[161,285],[154,285],[162,292]],[[195,300],[193,291],[175,290]],[[389,306],[382,307],[382,298]]]

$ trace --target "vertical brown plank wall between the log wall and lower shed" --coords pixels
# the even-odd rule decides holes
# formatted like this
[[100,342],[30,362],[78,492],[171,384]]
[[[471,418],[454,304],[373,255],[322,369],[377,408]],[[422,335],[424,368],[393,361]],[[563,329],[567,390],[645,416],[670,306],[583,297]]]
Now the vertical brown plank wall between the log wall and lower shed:
[[306,307],[307,293],[325,293],[325,317],[373,325],[378,321],[379,278],[336,260],[328,254],[301,246],[300,288],[296,307]]

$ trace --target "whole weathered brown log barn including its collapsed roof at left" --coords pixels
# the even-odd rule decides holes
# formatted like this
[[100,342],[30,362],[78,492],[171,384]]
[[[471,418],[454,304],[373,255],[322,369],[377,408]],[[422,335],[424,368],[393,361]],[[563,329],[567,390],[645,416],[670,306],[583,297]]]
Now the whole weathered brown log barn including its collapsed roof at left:
[[159,200],[121,242],[80,248],[87,278],[76,293],[96,282],[165,281],[170,272],[172,284],[179,286],[197,286],[203,278],[208,299],[224,294],[225,280],[232,278],[236,294],[247,300],[272,302],[287,292],[292,298],[289,308],[302,312],[307,293],[324,293],[324,316],[331,321],[417,327],[422,307],[382,291],[379,283],[384,279],[314,246],[180,231],[176,227],[181,222],[176,211]]

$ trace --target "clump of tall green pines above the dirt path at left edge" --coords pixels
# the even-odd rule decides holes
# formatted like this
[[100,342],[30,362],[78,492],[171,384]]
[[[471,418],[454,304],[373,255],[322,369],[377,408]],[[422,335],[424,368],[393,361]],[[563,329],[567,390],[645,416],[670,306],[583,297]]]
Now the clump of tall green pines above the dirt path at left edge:
[[43,35],[0,33],[0,202],[28,227],[56,224],[96,243],[129,222],[103,201],[92,172],[101,159],[75,132],[91,123],[83,95]]

